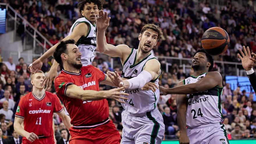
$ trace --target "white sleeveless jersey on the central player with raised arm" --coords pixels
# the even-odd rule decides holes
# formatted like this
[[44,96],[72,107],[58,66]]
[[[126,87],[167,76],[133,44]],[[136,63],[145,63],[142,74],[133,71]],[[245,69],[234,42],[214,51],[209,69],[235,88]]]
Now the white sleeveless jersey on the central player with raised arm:
[[[145,63],[150,59],[157,59],[152,53],[147,57],[143,58],[140,62],[136,63],[136,49],[132,49],[130,55],[124,62],[123,71],[121,77],[131,79],[138,76],[143,70]],[[162,70],[161,70],[162,72]],[[160,73],[161,74],[161,73]],[[159,75],[160,75],[159,74]],[[152,80],[158,85],[158,78]],[[141,114],[148,111],[156,109],[157,102],[159,99],[159,89],[152,92],[152,90],[141,90],[140,88],[136,89],[126,89],[123,91],[128,93],[128,100],[125,100],[125,104],[122,104],[123,108],[129,113]]]

